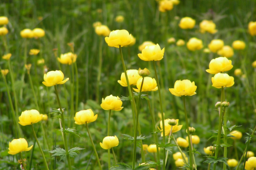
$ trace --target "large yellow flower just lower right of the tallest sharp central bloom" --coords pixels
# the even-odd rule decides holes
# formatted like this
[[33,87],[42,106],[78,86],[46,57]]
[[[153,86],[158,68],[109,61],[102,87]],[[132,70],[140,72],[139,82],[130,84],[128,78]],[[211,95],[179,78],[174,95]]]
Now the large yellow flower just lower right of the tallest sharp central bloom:
[[161,49],[158,44],[146,46],[138,56],[144,61],[160,61],[164,58],[164,48]]

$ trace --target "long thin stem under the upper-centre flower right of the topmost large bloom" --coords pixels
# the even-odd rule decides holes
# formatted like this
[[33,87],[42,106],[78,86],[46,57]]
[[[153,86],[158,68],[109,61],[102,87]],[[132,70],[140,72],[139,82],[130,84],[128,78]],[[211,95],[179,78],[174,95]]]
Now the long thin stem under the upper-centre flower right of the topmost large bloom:
[[[159,80],[158,80],[158,76],[157,76],[156,62],[153,61],[153,63],[154,63],[154,73],[155,73],[155,76],[156,76],[158,93],[159,93],[162,124],[163,124],[163,127],[165,127],[164,126],[164,111],[163,111],[163,105],[162,105],[162,100],[161,100],[161,88],[160,88],[160,84],[159,84]],[[163,128],[163,134],[165,134],[165,129],[164,128]],[[165,145],[165,135],[163,135],[163,141],[164,141],[164,145]],[[165,170],[165,148],[163,150],[164,150],[163,169]]]

